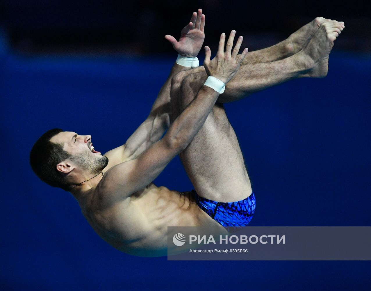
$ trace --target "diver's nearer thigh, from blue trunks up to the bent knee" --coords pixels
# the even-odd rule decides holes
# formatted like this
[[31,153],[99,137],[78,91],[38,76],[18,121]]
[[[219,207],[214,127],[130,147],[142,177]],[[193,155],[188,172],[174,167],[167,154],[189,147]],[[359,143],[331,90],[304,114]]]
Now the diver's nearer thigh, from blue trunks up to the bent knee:
[[[172,100],[176,114],[192,101],[206,78],[203,72],[186,76]],[[203,127],[180,157],[201,197],[232,202],[251,194],[241,149],[223,105],[214,106]]]

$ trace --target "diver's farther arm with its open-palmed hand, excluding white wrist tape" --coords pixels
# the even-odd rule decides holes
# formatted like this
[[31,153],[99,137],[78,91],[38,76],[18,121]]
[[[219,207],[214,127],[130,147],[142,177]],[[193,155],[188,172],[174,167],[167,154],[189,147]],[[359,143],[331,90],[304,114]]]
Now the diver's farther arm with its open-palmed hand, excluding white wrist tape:
[[[192,14],[190,22],[181,31],[178,42],[170,35],[166,35],[165,39],[171,42],[174,49],[181,56],[195,57],[198,55],[204,41],[204,26],[205,15],[202,14],[201,9],[198,9],[198,13],[194,12]],[[171,79],[177,73],[190,68],[191,67],[184,67],[174,63],[170,75],[165,84],[161,87],[146,120],[139,125],[137,130],[134,131],[124,145],[114,148],[104,154],[109,159],[107,169],[124,161],[137,158],[143,151],[160,140],[170,125]]]

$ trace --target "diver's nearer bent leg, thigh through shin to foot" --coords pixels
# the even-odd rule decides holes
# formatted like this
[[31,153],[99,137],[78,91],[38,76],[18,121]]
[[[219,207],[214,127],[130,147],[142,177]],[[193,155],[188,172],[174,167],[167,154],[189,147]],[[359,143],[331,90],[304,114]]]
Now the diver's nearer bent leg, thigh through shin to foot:
[[[302,76],[325,76],[328,69],[328,56],[334,40],[342,30],[341,27],[337,22],[321,25],[308,46],[289,58],[271,63],[242,66],[237,72],[239,76],[237,74],[237,77],[235,76],[236,88],[229,86],[231,82],[233,85],[232,79],[227,84],[230,95],[225,95],[226,88],[222,98],[226,99],[225,96],[230,96],[229,101],[234,101],[242,98],[241,96],[246,93],[289,79]],[[250,71],[244,70],[246,68]],[[252,68],[255,69],[251,72]],[[190,72],[188,71],[186,76],[177,75],[172,80],[173,120],[192,101],[206,79],[206,74],[201,68]],[[180,77],[181,79],[178,79]],[[180,156],[200,196],[220,202],[232,202],[244,199],[251,193],[251,184],[239,143],[222,105],[214,106],[201,130]]]

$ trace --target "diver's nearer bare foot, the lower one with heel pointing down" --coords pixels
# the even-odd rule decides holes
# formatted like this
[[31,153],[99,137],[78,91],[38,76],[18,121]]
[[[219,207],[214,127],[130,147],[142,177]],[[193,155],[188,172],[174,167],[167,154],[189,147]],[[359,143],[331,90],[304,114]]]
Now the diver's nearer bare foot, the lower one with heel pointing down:
[[322,23],[306,48],[298,53],[304,58],[306,68],[309,69],[307,76],[322,78],[327,75],[328,56],[343,28],[344,24],[336,20]]

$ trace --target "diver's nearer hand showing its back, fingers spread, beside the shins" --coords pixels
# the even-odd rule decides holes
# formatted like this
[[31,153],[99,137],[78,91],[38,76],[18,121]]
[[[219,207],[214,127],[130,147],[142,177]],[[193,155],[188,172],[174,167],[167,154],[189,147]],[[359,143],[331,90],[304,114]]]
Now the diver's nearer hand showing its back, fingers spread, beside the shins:
[[211,51],[208,46],[205,46],[205,61],[204,67],[206,69],[206,73],[208,76],[213,76],[224,84],[227,83],[230,79],[233,78],[234,74],[238,71],[240,67],[240,63],[247,55],[248,49],[244,49],[241,55],[237,55],[243,37],[240,36],[237,40],[236,46],[234,46],[232,55],[231,50],[233,46],[234,35],[236,34],[235,30],[232,30],[226,46],[226,51],[224,52],[224,41],[226,39],[226,35],[224,33],[221,34],[219,40],[219,48],[218,52],[216,53],[215,58],[210,61]]

